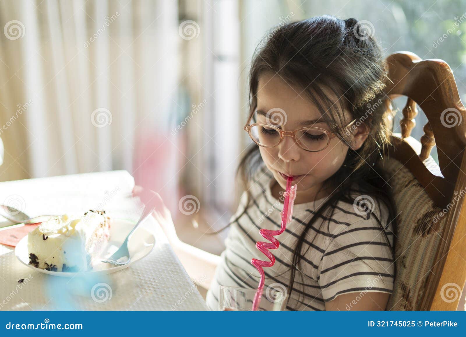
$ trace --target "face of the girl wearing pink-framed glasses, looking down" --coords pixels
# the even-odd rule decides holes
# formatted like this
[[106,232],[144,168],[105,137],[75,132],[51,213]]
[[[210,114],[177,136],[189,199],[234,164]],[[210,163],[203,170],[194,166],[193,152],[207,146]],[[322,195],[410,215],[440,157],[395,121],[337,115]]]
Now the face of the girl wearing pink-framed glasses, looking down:
[[[338,104],[338,97],[330,95]],[[339,105],[339,104],[338,104]],[[294,131],[303,126],[317,126],[330,132],[329,126],[325,122],[312,122],[322,117],[322,113],[317,107],[306,97],[301,90],[292,88],[279,75],[263,74],[259,77],[257,91],[257,111],[272,112],[267,119],[264,115],[257,113],[257,123],[266,123],[279,125],[276,120],[283,121],[281,129],[284,131]],[[278,110],[281,109],[281,110]],[[276,114],[285,116],[281,119],[275,119],[271,116]],[[351,114],[344,112],[345,120],[348,123],[351,121]],[[309,121],[304,124],[305,121]],[[349,128],[349,130],[352,130]],[[353,130],[354,134],[357,130]],[[366,137],[359,137],[352,148],[359,148]],[[360,143],[360,144],[359,144]],[[353,144],[353,143],[352,143]],[[343,161],[348,152],[348,146],[338,137],[330,139],[329,146],[319,152],[308,152],[296,144],[291,137],[284,137],[281,143],[275,147],[259,147],[260,154],[267,168],[274,174],[279,186],[275,185],[272,188],[274,197],[279,198],[281,190],[286,189],[287,180],[281,175],[297,176],[293,184],[298,185],[295,204],[302,204],[314,201],[321,197],[326,197],[333,191],[322,191],[316,195],[322,183],[332,176],[343,164]],[[278,189],[278,190],[277,190]]]

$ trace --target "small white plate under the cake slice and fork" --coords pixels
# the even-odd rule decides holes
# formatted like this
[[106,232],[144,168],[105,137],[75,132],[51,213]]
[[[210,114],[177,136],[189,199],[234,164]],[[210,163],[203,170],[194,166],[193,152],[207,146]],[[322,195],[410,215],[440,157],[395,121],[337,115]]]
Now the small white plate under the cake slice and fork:
[[[103,259],[109,257],[111,254],[117,251],[117,249],[121,246],[124,239],[126,238],[126,236],[131,231],[134,225],[135,224],[133,222],[128,220],[112,219],[110,225],[110,241],[107,247],[103,250]],[[134,262],[141,260],[149,253],[151,253],[152,248],[154,248],[155,246],[155,237],[151,232],[147,231],[144,227],[142,227],[143,225],[144,224],[141,224],[131,236],[129,242],[131,261],[130,263],[123,266],[115,266],[111,265],[110,263],[100,262],[96,266],[94,266],[93,270],[79,273],[53,272],[50,270],[36,268],[29,264],[29,252],[27,251],[27,235],[20,240],[20,242],[14,249],[14,254],[22,264],[44,274],[62,277],[74,277],[76,275],[82,274],[110,274],[118,270],[124,269],[126,267],[129,267]]]

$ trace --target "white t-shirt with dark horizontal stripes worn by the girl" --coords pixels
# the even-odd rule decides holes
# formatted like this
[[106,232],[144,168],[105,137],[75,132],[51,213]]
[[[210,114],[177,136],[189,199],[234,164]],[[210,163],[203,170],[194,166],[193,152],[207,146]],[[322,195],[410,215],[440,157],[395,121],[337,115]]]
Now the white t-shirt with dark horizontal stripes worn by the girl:
[[[274,176],[262,164],[254,174],[250,188],[253,202],[246,213],[230,225],[225,240],[226,249],[220,255],[219,266],[207,292],[206,302],[212,310],[218,310],[220,285],[254,289],[258,286],[259,272],[250,261],[252,258],[268,260],[255,247],[257,241],[267,241],[259,230],[278,230],[281,224],[283,204],[272,196],[274,183]],[[230,221],[243,212],[246,198],[244,192],[238,210]],[[286,309],[325,310],[325,302],[345,293],[361,293],[362,296],[370,291],[392,293],[394,263],[391,247],[386,243],[382,227],[375,218],[377,216],[381,220],[392,246],[394,234],[392,224],[387,224],[388,209],[375,197],[365,198],[374,201],[373,206],[368,207],[373,214],[361,204],[339,202],[331,218],[318,218],[308,231],[302,246],[302,275],[295,277]],[[264,267],[264,289],[269,286],[288,288],[297,240],[312,217],[313,210],[317,210],[326,199],[294,205],[293,217],[286,231],[275,236],[280,246],[271,250],[275,256],[274,266]]]

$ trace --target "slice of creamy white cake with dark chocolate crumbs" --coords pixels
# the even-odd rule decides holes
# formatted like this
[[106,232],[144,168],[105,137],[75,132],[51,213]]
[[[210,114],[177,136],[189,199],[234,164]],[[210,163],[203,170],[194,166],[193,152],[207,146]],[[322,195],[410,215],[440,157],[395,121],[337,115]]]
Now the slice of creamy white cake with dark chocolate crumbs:
[[100,260],[98,256],[110,238],[109,229],[105,211],[50,218],[27,235],[29,264],[58,272],[89,270]]

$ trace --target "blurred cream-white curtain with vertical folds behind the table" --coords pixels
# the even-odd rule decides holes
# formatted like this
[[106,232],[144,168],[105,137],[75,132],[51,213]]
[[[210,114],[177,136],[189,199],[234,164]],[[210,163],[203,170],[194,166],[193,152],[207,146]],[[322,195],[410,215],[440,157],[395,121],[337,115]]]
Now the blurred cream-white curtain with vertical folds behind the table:
[[126,169],[174,188],[177,0],[4,0],[0,28],[1,181]]

